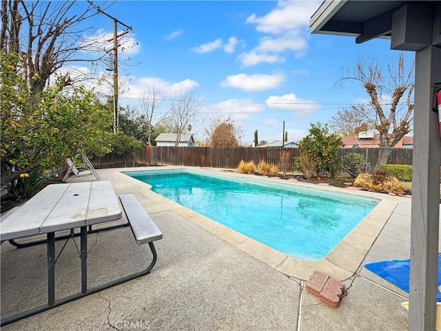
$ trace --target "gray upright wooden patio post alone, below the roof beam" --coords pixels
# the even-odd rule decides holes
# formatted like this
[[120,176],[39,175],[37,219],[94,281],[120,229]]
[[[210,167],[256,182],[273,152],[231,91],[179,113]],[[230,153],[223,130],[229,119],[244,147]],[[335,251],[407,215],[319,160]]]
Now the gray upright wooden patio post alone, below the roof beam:
[[433,83],[441,81],[441,48],[416,52],[409,330],[435,330],[438,276],[441,141],[432,111]]

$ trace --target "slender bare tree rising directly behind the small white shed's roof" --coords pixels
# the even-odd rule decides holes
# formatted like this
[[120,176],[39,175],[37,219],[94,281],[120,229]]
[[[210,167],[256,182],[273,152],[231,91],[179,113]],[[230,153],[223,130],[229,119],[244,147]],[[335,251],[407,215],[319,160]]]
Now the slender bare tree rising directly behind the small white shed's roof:
[[184,130],[192,130],[190,121],[195,119],[201,108],[201,101],[194,93],[194,90],[178,92],[170,101],[170,119],[176,131],[175,146],[178,146]]

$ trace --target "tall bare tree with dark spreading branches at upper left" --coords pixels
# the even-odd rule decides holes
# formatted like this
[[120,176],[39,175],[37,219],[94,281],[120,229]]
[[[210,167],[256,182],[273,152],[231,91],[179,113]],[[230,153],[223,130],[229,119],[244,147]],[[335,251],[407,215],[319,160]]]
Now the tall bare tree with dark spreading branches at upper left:
[[[51,74],[72,61],[98,61],[102,41],[85,39],[92,30],[93,3],[83,1],[1,1],[0,49],[24,59],[23,74],[32,92],[43,90]],[[85,28],[84,21],[91,25]],[[93,54],[93,57],[91,56]],[[69,74],[62,84],[71,83]]]

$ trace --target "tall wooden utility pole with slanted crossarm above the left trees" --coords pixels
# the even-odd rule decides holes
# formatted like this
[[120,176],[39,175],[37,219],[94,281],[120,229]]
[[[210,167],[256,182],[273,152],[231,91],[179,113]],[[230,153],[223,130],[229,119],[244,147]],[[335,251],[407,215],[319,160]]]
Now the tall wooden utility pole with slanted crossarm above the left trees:
[[[88,3],[90,3],[92,6],[94,4],[92,1],[88,0]],[[95,7],[95,6],[94,6]],[[110,50],[107,50],[106,52],[111,52],[113,50],[113,133],[116,133],[116,128],[119,127],[119,115],[118,115],[118,98],[119,98],[119,87],[118,87],[118,38],[122,37],[124,34],[127,34],[129,31],[125,30],[121,32],[121,34],[118,34],[118,23],[120,23],[122,26],[125,26],[125,28],[129,30],[133,30],[131,26],[127,26],[123,22],[119,21],[119,19],[116,19],[115,17],[110,16],[110,14],[107,14],[106,12],[103,12],[101,8],[95,7],[95,9],[98,12],[101,12],[101,14],[104,14],[105,16],[109,17],[113,20],[113,38],[109,39],[107,41],[113,41],[113,48]]]

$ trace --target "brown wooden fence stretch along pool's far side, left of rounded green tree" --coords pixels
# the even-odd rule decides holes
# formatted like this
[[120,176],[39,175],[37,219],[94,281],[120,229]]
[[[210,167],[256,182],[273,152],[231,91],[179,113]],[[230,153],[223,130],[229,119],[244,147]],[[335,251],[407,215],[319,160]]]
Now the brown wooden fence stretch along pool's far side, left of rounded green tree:
[[[147,146],[145,161],[152,165],[184,165],[191,167],[237,168],[239,162],[260,160],[280,163],[280,153],[286,151],[291,160],[298,157],[297,148],[252,148],[252,147],[172,147]],[[288,171],[292,171],[293,164]]]

